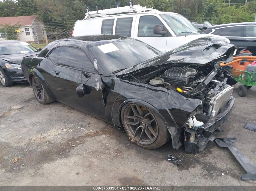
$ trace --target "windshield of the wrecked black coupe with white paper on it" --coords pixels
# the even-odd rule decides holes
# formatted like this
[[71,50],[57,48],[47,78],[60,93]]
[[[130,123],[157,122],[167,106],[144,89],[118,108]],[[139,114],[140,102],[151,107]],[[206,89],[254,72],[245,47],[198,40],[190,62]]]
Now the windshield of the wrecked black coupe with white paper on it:
[[92,46],[91,52],[106,74],[129,68],[161,54],[148,44],[134,39]]

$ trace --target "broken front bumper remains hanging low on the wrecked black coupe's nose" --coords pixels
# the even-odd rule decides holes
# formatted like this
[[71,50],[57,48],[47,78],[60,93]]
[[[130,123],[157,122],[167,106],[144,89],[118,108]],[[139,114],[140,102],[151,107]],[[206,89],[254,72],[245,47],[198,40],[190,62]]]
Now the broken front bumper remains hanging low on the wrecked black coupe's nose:
[[190,153],[196,153],[203,151],[209,141],[214,141],[215,137],[218,135],[218,132],[221,131],[222,124],[228,120],[228,116],[232,111],[234,105],[234,97],[232,97],[227,106],[222,110],[222,112],[211,119],[208,123],[198,127],[197,130],[188,129],[186,132],[195,134],[194,141],[191,142],[189,137],[184,142],[185,151]]

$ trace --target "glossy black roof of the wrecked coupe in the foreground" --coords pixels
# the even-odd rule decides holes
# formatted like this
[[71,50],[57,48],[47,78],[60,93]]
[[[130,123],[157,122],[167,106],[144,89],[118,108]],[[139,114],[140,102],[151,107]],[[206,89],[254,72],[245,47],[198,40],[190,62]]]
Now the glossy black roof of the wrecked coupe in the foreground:
[[112,35],[112,34],[99,34],[99,35],[87,35],[87,36],[79,36],[79,37],[71,37],[66,38],[62,40],[57,41],[73,41],[73,40],[79,40],[84,41],[85,43],[91,45],[91,46],[98,46],[101,44],[110,43],[116,40],[123,40],[128,39],[128,37],[118,36],[118,35]]

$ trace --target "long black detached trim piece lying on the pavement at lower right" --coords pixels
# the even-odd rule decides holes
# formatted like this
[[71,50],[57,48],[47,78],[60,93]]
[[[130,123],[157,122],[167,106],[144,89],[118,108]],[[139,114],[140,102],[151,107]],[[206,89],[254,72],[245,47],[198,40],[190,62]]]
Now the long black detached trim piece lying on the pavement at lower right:
[[254,166],[248,158],[246,158],[237,148],[234,147],[233,144],[236,142],[236,140],[236,138],[216,138],[215,142],[219,145],[219,147],[227,147],[244,168],[246,174],[242,175],[242,180],[256,181],[256,166]]

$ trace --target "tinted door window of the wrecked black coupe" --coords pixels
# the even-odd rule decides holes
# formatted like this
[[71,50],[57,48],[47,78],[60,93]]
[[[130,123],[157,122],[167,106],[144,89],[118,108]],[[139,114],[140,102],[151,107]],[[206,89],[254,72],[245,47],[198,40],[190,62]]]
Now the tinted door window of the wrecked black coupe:
[[58,65],[77,68],[88,72],[96,72],[88,56],[78,48],[62,47]]

